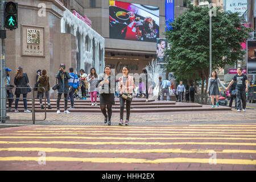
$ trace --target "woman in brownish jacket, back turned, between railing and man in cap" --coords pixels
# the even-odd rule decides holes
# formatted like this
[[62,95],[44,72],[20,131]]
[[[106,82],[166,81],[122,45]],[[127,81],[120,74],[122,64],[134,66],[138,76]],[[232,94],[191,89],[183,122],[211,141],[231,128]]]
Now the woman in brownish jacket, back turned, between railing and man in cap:
[[47,76],[46,73],[47,73],[46,70],[43,69],[42,76],[38,77],[39,101],[40,101],[41,109],[44,109],[44,106],[42,104],[42,98],[43,98],[44,89],[46,89],[46,98],[47,98],[47,102],[48,102],[48,109],[52,109],[51,104],[50,104],[50,99],[49,99],[49,90],[50,90],[49,76]]

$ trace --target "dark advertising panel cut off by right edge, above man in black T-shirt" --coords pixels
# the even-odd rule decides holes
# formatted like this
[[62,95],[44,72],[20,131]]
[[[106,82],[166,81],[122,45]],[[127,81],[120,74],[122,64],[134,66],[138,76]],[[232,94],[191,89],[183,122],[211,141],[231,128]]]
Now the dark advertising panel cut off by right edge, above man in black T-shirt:
[[247,41],[247,74],[256,74],[256,41]]

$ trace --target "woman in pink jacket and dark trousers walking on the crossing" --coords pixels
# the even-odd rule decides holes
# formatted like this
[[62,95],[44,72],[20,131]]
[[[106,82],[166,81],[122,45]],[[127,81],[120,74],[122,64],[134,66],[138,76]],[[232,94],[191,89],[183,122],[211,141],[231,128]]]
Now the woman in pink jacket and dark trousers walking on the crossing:
[[[133,89],[135,88],[133,76],[129,76],[129,68],[123,66],[123,76],[119,78],[119,93],[122,95],[123,93],[133,94]],[[119,97],[120,100],[120,121],[119,125],[123,125],[123,110],[125,109],[125,101],[126,101],[126,121],[125,125],[128,125],[130,118],[130,109],[131,109],[131,101],[125,100],[122,96]]]

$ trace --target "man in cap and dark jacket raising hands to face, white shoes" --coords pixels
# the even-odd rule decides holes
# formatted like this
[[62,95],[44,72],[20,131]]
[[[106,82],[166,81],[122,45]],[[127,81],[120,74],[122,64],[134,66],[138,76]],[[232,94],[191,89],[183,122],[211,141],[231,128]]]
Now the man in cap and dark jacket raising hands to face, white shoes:
[[56,73],[56,78],[59,83],[58,89],[58,97],[57,97],[57,114],[60,114],[60,98],[61,95],[64,93],[64,101],[65,101],[65,114],[69,114],[68,111],[68,79],[70,79],[70,75],[68,72],[65,71],[66,67],[65,64],[60,64],[60,70]]

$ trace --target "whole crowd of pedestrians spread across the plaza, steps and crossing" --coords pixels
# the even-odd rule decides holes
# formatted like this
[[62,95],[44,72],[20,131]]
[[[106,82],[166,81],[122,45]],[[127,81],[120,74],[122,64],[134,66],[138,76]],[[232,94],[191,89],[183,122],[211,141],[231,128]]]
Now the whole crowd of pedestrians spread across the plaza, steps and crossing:
[[[24,112],[31,113],[30,110],[27,109],[27,93],[31,92],[31,87],[28,85],[29,80],[27,73],[23,73],[23,68],[18,67],[14,76],[14,85],[16,86],[15,92],[13,94],[14,85],[11,85],[10,72],[11,69],[6,68],[6,94],[7,100],[9,101],[9,108],[7,111],[13,112],[11,109],[11,105],[14,101],[15,94],[15,113],[18,113],[18,102],[20,95],[22,94]],[[91,106],[97,106],[97,96],[100,98],[100,110],[104,115],[104,123],[111,125],[112,118],[112,106],[115,104],[115,97],[119,97],[120,101],[120,120],[119,125],[123,125],[123,111],[125,109],[126,103],[126,119],[125,125],[128,125],[130,119],[130,108],[133,97],[136,98],[141,95],[142,98],[146,97],[146,102],[148,102],[148,96],[152,94],[152,90],[154,90],[155,83],[151,80],[150,76],[147,74],[147,70],[143,69],[142,73],[144,73],[145,79],[140,78],[139,84],[135,86],[135,79],[133,76],[129,75],[129,68],[123,66],[122,73],[123,75],[119,77],[118,80],[115,80],[111,77],[111,68],[110,65],[106,65],[104,68],[104,76],[98,76],[95,68],[90,69],[89,75],[86,75],[84,69],[80,70],[80,75],[76,75],[73,68],[68,69],[69,72],[66,71],[65,64],[60,64],[59,71],[56,73],[56,85],[53,86],[53,90],[57,90],[57,114],[60,114],[60,100],[62,94],[64,94],[64,113],[69,114],[70,111],[68,109],[75,109],[74,105],[74,97],[77,93],[82,93],[81,99],[86,99],[86,94],[90,94],[90,101],[92,102]],[[48,102],[48,109],[51,108],[49,91],[51,89],[50,77],[47,75],[46,69],[38,70],[36,75],[36,84],[35,88],[38,91],[38,98],[40,102],[41,109],[44,109],[42,104],[42,98],[44,97],[44,93]],[[150,84],[148,85],[148,82]],[[118,83],[118,84],[117,84]],[[211,77],[208,80],[208,88],[207,92],[211,97],[212,108],[214,108],[214,98],[216,100],[217,107],[218,97],[220,96],[220,86],[225,90],[229,89],[229,97],[230,104],[232,107],[232,102],[234,100],[235,107],[237,111],[245,111],[246,109],[246,92],[248,90],[248,81],[247,76],[242,73],[242,68],[237,69],[237,75],[232,78],[228,87],[225,87],[220,78],[218,78],[216,71],[213,71]],[[158,100],[163,101],[164,95],[167,96],[167,101],[170,101],[170,90],[172,93],[176,95],[177,100],[179,102],[183,102],[183,96],[185,95],[185,101],[189,102],[189,97],[191,98],[191,102],[194,102],[196,89],[191,85],[190,87],[187,85],[186,87],[183,85],[183,82],[180,81],[180,84],[177,85],[176,89],[172,89],[172,84],[168,79],[162,80],[162,77],[159,77],[159,83],[156,86],[158,88]],[[223,94],[222,94],[223,95]],[[70,100],[71,106],[68,108],[68,98]]]

